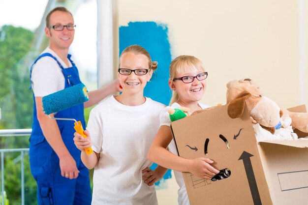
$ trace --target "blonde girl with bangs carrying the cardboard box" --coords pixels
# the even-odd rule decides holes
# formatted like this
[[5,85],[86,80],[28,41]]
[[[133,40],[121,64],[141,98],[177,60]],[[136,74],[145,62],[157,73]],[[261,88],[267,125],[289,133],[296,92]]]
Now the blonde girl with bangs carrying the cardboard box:
[[[170,106],[160,114],[160,128],[149,149],[148,158],[162,167],[174,170],[178,190],[179,205],[189,205],[184,179],[181,172],[190,172],[195,176],[211,179],[219,173],[213,168],[208,158],[185,159],[178,156],[175,142],[170,130],[168,109],[187,107],[190,112],[208,108],[199,103],[206,89],[206,78],[203,63],[193,56],[179,56],[170,64],[169,86],[173,90]],[[167,148],[168,147],[168,148]]]

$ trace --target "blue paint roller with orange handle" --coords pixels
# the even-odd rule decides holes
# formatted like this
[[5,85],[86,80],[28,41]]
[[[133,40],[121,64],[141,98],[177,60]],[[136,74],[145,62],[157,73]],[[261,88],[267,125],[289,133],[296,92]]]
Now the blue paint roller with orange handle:
[[[69,96],[69,97],[68,97]],[[62,110],[65,110],[69,107],[73,107],[80,103],[84,103],[89,100],[88,90],[85,85],[77,84],[75,86],[62,89],[58,92],[46,95],[43,97],[43,111],[51,119],[61,119],[61,120],[73,120],[74,129],[84,138],[87,136],[84,134],[84,129],[80,121],[77,122],[73,118],[59,118],[59,117],[50,117],[50,114],[56,113]],[[91,147],[85,148],[87,154],[92,154],[93,150]]]

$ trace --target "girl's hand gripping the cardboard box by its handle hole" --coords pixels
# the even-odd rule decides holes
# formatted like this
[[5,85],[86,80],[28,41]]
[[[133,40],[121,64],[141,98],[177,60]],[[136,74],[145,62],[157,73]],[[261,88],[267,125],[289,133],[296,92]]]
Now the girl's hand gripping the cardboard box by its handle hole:
[[190,160],[190,173],[205,179],[211,179],[213,176],[219,173],[219,170],[216,170],[211,166],[212,161],[209,158],[196,158]]

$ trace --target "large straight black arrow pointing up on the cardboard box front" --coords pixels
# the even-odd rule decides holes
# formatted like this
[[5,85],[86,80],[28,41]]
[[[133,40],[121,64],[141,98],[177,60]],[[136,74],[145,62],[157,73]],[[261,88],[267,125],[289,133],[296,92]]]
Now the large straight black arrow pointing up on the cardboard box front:
[[252,154],[250,154],[246,151],[243,151],[242,155],[240,156],[240,158],[238,160],[243,160],[245,171],[246,171],[246,176],[247,176],[247,179],[248,179],[248,184],[249,184],[249,188],[250,188],[250,192],[251,192],[251,196],[252,196],[252,200],[253,200],[253,204],[254,205],[262,205],[260,194],[259,194],[259,191],[258,191],[257,182],[255,180],[255,176],[253,174],[253,169],[252,169],[252,165],[251,165],[251,161],[250,161],[250,157],[252,157],[252,156],[253,156]]

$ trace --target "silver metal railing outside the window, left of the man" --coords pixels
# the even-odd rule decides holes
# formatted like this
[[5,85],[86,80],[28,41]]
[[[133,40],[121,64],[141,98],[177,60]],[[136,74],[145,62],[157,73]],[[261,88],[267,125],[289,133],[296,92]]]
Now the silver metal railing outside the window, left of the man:
[[[12,136],[27,136],[31,134],[31,129],[7,129],[0,130],[0,137],[12,137]],[[25,173],[24,173],[24,155],[25,152],[29,152],[29,148],[13,148],[13,149],[0,149],[1,155],[1,178],[0,178],[0,193],[1,202],[0,205],[4,205],[4,153],[8,152],[20,152],[21,160],[21,203],[25,205]]]

